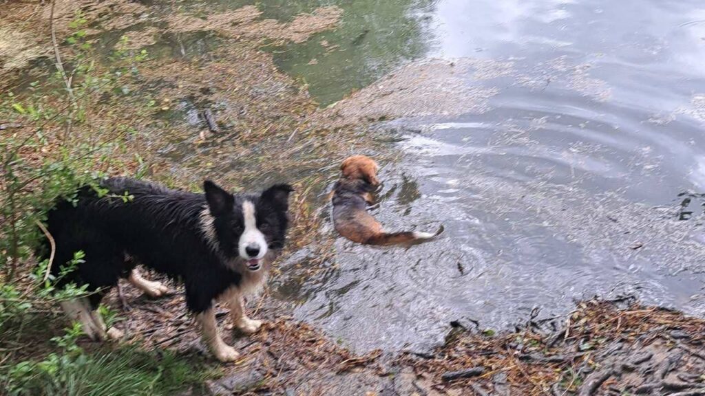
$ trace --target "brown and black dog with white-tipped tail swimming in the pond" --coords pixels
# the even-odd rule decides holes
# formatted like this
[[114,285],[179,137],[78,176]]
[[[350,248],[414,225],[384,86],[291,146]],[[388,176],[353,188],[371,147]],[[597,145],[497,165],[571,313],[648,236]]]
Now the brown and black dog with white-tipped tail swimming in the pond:
[[365,245],[412,244],[429,240],[438,232],[404,231],[387,233],[382,225],[367,213],[372,204],[372,192],[379,185],[379,166],[368,156],[351,156],[341,165],[342,177],[333,187],[333,224],[343,237]]

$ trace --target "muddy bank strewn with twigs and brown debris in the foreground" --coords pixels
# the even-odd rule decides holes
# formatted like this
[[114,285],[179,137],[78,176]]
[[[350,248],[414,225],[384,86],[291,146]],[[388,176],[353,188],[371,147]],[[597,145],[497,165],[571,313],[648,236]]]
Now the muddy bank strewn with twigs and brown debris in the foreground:
[[[431,351],[356,356],[320,332],[271,318],[239,339],[243,360],[213,395],[701,395],[705,321],[633,301],[581,302],[512,333],[448,323]],[[544,330],[539,330],[539,328]],[[195,345],[195,344],[192,344]],[[195,347],[185,347],[184,351]]]

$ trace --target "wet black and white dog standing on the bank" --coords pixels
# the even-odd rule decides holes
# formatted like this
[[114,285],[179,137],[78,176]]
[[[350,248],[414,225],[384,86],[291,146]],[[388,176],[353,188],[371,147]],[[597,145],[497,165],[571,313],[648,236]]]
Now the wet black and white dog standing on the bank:
[[274,185],[262,194],[233,195],[207,180],[205,194],[194,194],[130,178],[107,179],[102,187],[109,191],[103,197],[85,187],[78,202],[60,202],[48,215],[56,243],[54,275],[74,252],[85,253],[59,286],[88,285],[94,292],[63,302],[66,313],[93,339],[120,337],[118,330],[106,329],[97,311],[118,278],[127,277],[147,295],[166,292],[161,283],[140,276],[135,265],[142,264],[182,280],[204,342],[217,359],[237,359],[218,333],[213,304],[228,302],[233,325],[245,333],[262,325],[245,315],[243,295],[264,283],[284,245],[292,188]]

